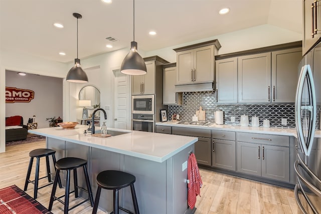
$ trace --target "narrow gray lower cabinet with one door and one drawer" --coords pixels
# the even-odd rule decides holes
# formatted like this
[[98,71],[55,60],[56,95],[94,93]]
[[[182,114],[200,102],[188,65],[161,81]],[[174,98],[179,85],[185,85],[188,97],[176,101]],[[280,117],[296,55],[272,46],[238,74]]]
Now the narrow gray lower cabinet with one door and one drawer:
[[212,166],[236,170],[235,132],[212,130]]

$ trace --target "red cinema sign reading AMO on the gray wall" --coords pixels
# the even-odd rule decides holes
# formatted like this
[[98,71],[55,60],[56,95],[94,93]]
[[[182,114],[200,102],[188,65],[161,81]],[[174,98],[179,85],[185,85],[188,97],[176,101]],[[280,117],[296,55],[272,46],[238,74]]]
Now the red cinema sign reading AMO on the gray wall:
[[34,99],[35,92],[27,89],[6,87],[6,103],[29,103]]

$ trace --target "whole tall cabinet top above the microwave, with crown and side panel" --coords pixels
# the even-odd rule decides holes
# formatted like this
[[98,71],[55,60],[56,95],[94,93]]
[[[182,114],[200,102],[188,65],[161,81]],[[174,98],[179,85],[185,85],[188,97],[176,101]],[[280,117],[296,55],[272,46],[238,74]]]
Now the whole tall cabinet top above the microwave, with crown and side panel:
[[158,94],[163,97],[163,65],[158,56],[144,58],[147,74],[131,77],[131,95]]

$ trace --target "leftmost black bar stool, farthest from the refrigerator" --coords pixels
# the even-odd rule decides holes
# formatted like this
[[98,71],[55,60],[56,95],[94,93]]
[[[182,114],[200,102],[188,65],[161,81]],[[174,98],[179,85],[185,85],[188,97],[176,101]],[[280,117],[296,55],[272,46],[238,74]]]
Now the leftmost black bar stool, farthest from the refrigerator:
[[[29,167],[28,167],[28,171],[27,171],[27,176],[26,176],[26,181],[25,181],[25,188],[24,191],[27,190],[28,188],[28,184],[29,183],[33,183],[34,186],[34,198],[37,198],[37,193],[38,193],[38,189],[41,189],[45,186],[51,185],[53,184],[53,182],[51,182],[51,176],[50,175],[55,175],[54,173],[50,172],[50,164],[49,164],[49,156],[52,156],[54,165],[56,164],[56,157],[55,157],[55,153],[56,151],[53,149],[45,149],[45,148],[41,148],[41,149],[34,149],[32,151],[29,152],[29,156],[30,156],[30,161],[29,161]],[[34,158],[37,158],[36,161],[36,172],[35,172],[35,180],[30,180],[30,174],[31,174],[31,169],[32,169],[32,165],[34,162]],[[41,157],[46,157],[46,165],[47,165],[47,175],[44,177],[39,178],[39,166],[40,166],[40,158]],[[48,177],[48,184],[43,185],[41,187],[38,187],[39,185],[39,180]],[[58,177],[58,182],[59,182],[59,187],[61,188],[61,180],[60,177]]]

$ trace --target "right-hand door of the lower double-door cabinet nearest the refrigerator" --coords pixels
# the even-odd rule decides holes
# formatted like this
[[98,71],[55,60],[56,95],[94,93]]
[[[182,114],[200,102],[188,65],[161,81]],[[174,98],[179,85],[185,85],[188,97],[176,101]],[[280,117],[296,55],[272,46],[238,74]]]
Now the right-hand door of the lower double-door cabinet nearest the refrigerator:
[[289,182],[289,148],[264,144],[262,144],[261,146],[262,176]]

